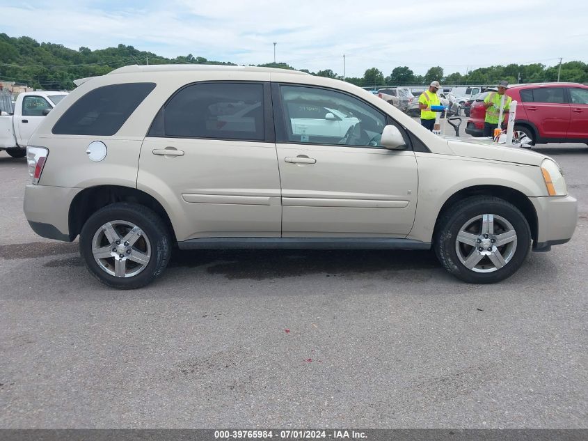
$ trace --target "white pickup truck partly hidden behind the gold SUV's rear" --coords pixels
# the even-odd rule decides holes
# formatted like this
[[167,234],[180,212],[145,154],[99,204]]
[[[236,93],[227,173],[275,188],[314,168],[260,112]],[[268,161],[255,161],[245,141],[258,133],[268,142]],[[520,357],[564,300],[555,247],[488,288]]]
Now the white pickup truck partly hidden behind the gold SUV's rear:
[[60,102],[67,92],[25,92],[18,95],[14,114],[0,114],[0,151],[12,157],[24,157],[31,134],[45,115]]

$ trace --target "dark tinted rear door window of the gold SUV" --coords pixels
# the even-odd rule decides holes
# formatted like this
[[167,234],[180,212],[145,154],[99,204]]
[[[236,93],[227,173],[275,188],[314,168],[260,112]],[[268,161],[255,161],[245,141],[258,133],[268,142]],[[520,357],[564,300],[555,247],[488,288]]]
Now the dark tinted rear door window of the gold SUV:
[[263,84],[200,83],[184,87],[164,108],[164,136],[262,141],[263,93]]

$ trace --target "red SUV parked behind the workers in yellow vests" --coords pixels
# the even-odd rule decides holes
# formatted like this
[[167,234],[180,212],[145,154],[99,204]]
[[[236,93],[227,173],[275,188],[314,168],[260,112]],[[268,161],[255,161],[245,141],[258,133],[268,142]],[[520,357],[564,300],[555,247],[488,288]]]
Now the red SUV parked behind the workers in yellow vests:
[[[507,90],[507,95],[518,102],[514,130],[529,137],[531,145],[588,143],[588,86],[577,83],[516,84]],[[485,116],[484,103],[473,102],[466,133],[481,137]]]

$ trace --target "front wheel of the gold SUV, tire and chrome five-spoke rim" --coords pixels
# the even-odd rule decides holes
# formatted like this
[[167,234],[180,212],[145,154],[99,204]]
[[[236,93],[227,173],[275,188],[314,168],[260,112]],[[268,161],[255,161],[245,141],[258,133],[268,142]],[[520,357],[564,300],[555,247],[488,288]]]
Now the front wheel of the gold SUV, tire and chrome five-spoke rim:
[[434,240],[447,271],[472,284],[491,284],[521,267],[531,246],[531,230],[511,203],[473,196],[445,212]]

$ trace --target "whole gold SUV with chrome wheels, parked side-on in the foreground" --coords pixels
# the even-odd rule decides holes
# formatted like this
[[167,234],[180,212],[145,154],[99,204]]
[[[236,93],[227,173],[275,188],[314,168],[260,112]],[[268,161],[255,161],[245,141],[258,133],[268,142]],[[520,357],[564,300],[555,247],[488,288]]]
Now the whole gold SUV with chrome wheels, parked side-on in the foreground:
[[127,66],[82,79],[29,141],[24,212],[115,288],[180,249],[431,249],[476,284],[568,242],[577,202],[539,153],[447,140],[303,72]]

